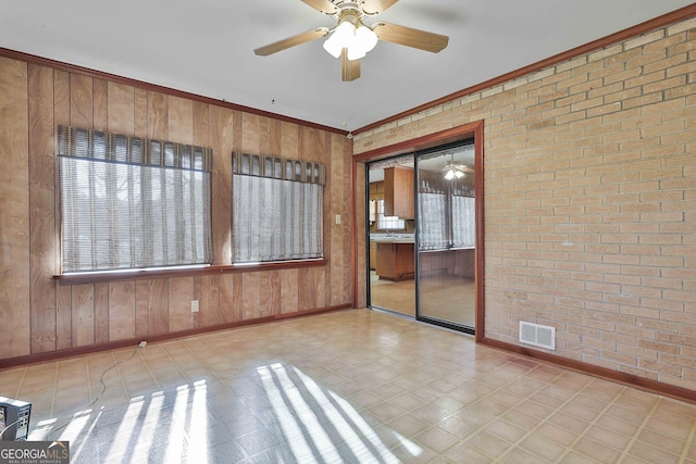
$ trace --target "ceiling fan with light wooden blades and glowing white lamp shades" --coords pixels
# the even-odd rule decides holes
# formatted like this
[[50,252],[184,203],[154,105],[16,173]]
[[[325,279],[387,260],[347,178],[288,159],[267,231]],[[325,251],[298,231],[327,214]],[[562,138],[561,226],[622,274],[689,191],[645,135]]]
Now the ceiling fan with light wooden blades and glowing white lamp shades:
[[324,50],[334,58],[340,58],[341,80],[355,80],[360,77],[360,59],[372,50],[377,40],[437,53],[447,47],[449,37],[411,27],[388,23],[375,23],[368,26],[366,17],[376,16],[399,0],[301,0],[314,10],[336,20],[334,27],[318,27],[287,39],[256,49],[253,52],[268,57],[290,47],[320,39],[331,34],[324,41]]

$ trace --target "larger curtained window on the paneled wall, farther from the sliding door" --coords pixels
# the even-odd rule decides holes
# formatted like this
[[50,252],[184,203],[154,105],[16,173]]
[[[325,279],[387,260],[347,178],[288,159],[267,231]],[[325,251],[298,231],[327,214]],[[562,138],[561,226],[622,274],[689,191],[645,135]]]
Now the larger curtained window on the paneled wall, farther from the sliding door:
[[64,273],[212,263],[212,150],[59,127]]

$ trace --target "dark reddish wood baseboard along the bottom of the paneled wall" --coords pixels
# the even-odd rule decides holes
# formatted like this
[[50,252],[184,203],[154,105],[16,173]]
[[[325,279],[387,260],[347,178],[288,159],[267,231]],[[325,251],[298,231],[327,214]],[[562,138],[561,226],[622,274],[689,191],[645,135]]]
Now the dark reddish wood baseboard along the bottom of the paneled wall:
[[321,313],[328,313],[328,312],[332,312],[332,311],[347,310],[347,309],[350,309],[350,308],[352,308],[352,304],[338,304],[338,305],[335,305],[335,306],[318,308],[318,309],[314,309],[314,310],[307,310],[307,311],[297,312],[297,313],[275,314],[275,315],[272,315],[272,316],[259,317],[259,318],[249,319],[249,321],[239,321],[239,322],[220,324],[220,325],[210,326],[210,327],[199,327],[199,328],[192,328],[192,329],[188,329],[188,330],[173,331],[173,333],[169,333],[169,334],[153,335],[153,336],[147,336],[147,337],[140,337],[140,338],[132,338],[132,339],[126,339],[126,340],[110,341],[108,343],[90,344],[90,346],[86,346],[86,347],[66,348],[64,350],[48,351],[46,353],[36,353],[36,354],[27,354],[27,355],[24,355],[24,356],[8,358],[8,359],[4,359],[4,360],[0,360],[0,368],[8,368],[8,367],[16,367],[16,366],[23,366],[23,365],[28,365],[28,364],[45,363],[45,362],[48,362],[48,361],[57,361],[57,360],[62,360],[62,359],[66,359],[66,358],[83,356],[85,354],[92,354],[92,353],[98,353],[98,352],[108,351],[108,350],[117,350],[117,349],[121,349],[121,348],[128,348],[128,347],[136,348],[140,343],[140,341],[147,341],[148,344],[149,343],[157,343],[159,341],[176,340],[176,339],[179,339],[179,338],[192,337],[192,336],[196,336],[196,335],[209,334],[209,333],[220,331],[220,330],[229,330],[229,329],[233,329],[233,328],[245,327],[245,326],[250,326],[250,325],[258,325],[258,324],[265,324],[265,323],[271,323],[271,322],[275,322],[275,321],[285,321],[285,319],[289,319],[289,318],[306,317],[306,316],[316,315],[316,314],[321,314]]

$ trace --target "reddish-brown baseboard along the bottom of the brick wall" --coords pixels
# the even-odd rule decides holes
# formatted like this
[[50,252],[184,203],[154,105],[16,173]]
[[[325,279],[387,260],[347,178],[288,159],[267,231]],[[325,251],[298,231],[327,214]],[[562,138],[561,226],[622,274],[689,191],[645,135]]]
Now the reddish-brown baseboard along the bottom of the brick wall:
[[493,340],[490,338],[483,337],[477,340],[477,342],[487,347],[497,348],[504,351],[533,358],[538,361],[544,361],[546,363],[554,364],[559,367],[563,367],[577,373],[592,375],[594,377],[616,381],[629,387],[635,387],[637,389],[649,391],[651,393],[662,394],[664,397],[670,397],[676,400],[696,404],[696,391],[689,390],[687,388],[676,387],[674,385],[664,384],[662,381],[638,377],[637,375],[633,374],[612,371],[607,367],[594,366],[582,361],[570,360],[568,358],[561,358],[555,354],[547,353],[545,351],[532,350],[530,348],[507,343],[505,341]]

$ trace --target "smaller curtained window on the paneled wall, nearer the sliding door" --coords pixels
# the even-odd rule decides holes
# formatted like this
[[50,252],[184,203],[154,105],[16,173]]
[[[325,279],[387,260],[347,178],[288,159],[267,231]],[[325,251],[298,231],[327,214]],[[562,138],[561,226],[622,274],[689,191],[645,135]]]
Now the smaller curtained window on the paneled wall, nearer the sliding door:
[[323,258],[322,164],[233,153],[233,262]]

